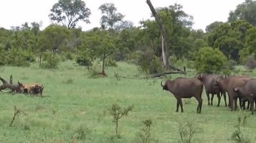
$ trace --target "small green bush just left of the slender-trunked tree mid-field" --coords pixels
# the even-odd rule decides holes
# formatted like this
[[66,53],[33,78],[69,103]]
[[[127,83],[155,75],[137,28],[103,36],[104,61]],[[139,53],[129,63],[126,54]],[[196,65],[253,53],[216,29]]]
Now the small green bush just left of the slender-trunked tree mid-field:
[[78,50],[76,56],[76,63],[79,66],[92,66],[93,61],[95,60],[93,52],[86,49],[86,50]]

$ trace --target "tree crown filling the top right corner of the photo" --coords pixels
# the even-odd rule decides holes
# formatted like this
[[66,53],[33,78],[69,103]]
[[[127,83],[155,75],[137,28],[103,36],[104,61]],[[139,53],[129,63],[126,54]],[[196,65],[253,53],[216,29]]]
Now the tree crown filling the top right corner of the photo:
[[256,26],[256,1],[245,0],[244,3],[239,4],[236,10],[229,13],[228,21],[243,19]]

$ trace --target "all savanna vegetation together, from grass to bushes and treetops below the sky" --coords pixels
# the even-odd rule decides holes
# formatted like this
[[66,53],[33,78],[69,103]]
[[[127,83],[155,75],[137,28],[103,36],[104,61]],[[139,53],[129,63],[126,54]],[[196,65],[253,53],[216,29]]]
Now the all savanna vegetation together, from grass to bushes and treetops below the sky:
[[0,142],[254,142],[248,110],[230,111],[223,99],[207,106],[203,92],[201,114],[195,99],[176,113],[160,83],[197,73],[255,77],[256,1],[205,31],[192,28],[182,5],[145,5],[155,20],[139,26],[106,3],[101,26],[82,31],[77,22],[90,22],[90,8],[59,0],[44,30],[41,22],[0,27],[1,77],[44,84],[43,98],[0,92]]

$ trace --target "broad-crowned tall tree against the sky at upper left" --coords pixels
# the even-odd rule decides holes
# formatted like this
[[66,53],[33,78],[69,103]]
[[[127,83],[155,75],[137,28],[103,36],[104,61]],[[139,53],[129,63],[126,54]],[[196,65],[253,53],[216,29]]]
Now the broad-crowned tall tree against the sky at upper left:
[[91,11],[81,0],[59,0],[54,4],[49,17],[53,21],[66,25],[68,29],[74,28],[78,21],[90,23]]

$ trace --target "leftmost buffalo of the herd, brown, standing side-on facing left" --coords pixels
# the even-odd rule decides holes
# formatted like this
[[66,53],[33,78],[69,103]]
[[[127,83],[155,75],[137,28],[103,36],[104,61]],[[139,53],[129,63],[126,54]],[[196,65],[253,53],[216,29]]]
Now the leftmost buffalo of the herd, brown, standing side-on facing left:
[[179,106],[181,107],[181,112],[183,112],[182,98],[195,97],[198,101],[197,113],[201,113],[203,84],[200,80],[197,78],[176,78],[167,80],[164,85],[161,82],[161,86],[163,90],[171,92],[177,99],[176,112],[179,111]]

